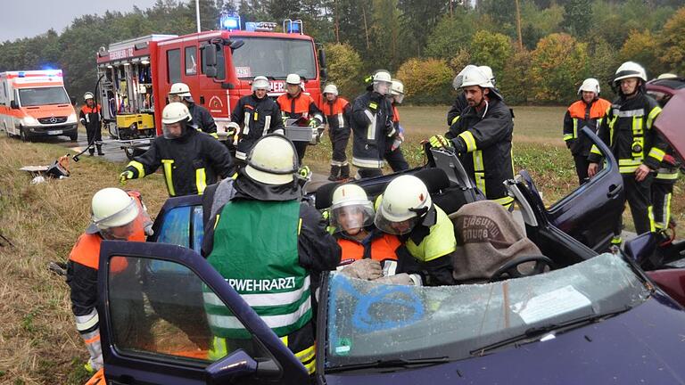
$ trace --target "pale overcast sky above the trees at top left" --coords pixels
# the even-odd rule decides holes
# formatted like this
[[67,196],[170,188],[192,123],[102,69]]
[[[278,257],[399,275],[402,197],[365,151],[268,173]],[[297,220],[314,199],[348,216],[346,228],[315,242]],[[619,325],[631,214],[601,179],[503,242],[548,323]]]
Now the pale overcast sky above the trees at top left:
[[2,26],[0,43],[20,37],[34,37],[54,29],[62,29],[74,18],[88,14],[102,14],[107,10],[128,12],[137,5],[150,8],[154,0],[0,0],[2,2]]

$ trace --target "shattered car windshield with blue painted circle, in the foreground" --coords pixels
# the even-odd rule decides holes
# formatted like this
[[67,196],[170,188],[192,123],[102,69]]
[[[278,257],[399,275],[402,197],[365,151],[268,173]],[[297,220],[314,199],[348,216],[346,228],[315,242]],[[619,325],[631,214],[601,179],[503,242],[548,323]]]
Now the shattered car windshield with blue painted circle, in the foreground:
[[631,266],[609,253],[498,283],[415,287],[338,273],[329,278],[325,365],[336,370],[379,361],[463,359],[533,328],[627,310],[650,292]]

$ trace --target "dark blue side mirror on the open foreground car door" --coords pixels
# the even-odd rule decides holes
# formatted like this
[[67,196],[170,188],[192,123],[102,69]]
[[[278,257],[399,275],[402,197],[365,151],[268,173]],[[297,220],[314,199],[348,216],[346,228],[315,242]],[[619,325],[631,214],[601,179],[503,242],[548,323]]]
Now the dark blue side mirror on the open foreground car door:
[[243,350],[237,350],[229,356],[207,366],[204,369],[207,384],[229,383],[237,377],[259,374],[260,377],[279,376],[281,369],[273,360],[257,362]]

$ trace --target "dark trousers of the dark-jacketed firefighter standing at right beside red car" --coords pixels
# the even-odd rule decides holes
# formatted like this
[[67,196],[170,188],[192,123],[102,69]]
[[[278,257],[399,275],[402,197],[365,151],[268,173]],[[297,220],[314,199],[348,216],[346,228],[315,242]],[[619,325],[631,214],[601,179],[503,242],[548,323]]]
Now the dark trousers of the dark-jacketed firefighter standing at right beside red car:
[[[635,224],[636,233],[655,232],[654,212],[652,210],[651,187],[654,181],[654,173],[641,182],[635,180],[635,174],[622,174],[625,200],[631,208],[632,222]],[[622,213],[623,214],[623,213]],[[623,218],[619,217],[615,228],[615,235],[620,235],[623,229]]]

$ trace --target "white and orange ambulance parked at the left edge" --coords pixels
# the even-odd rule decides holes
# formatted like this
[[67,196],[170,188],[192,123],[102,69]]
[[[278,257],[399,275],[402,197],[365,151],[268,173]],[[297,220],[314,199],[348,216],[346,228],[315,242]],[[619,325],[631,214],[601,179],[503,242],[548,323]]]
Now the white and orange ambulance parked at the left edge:
[[78,139],[78,117],[62,70],[0,72],[0,130],[29,141],[38,136]]

